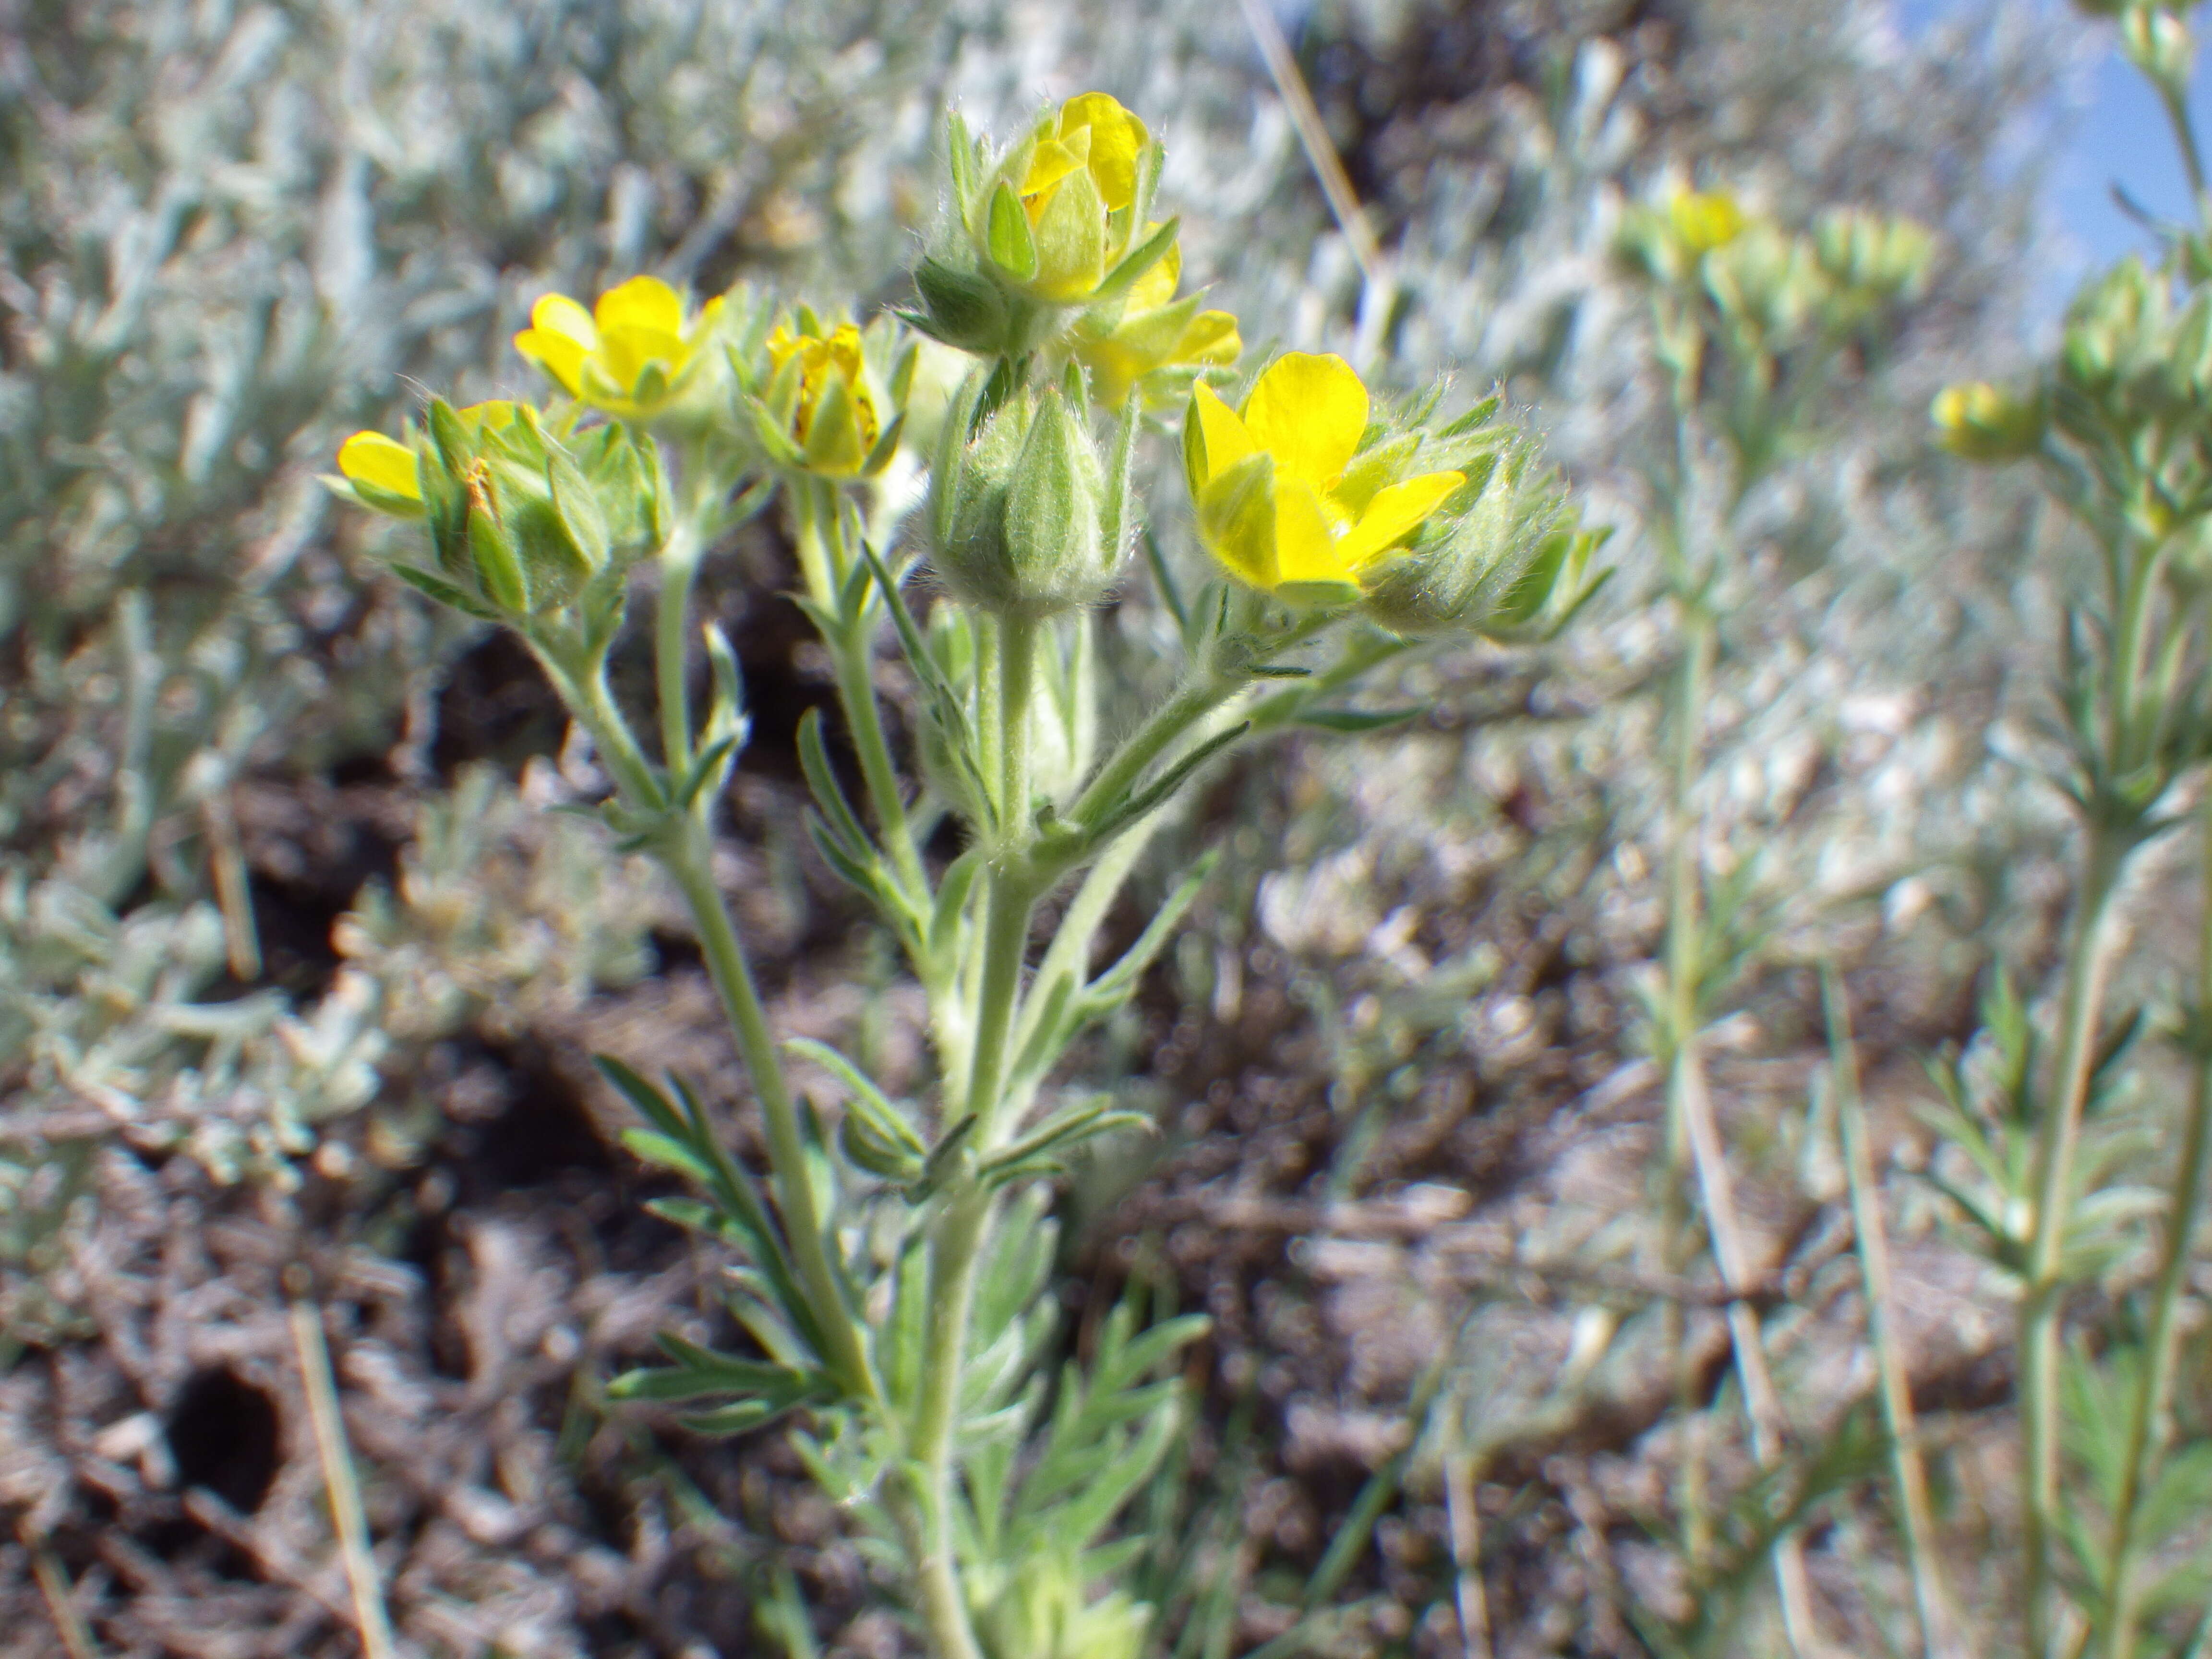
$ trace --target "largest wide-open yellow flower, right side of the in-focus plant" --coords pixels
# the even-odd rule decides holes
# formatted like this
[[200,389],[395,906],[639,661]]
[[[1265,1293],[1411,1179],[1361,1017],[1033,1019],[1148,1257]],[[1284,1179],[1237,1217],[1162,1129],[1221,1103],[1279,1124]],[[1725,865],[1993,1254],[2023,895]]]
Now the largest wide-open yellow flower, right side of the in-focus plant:
[[1367,387],[1340,356],[1292,352],[1241,409],[1197,385],[1183,473],[1199,540],[1237,577],[1292,599],[1352,599],[1360,577],[1411,535],[1467,473],[1391,478],[1407,445],[1360,456]]

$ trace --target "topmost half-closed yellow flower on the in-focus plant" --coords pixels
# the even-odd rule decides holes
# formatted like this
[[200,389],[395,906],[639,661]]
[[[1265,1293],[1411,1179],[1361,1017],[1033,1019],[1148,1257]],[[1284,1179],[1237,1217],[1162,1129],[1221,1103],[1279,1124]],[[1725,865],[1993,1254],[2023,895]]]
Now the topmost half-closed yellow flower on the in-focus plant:
[[1037,299],[1088,299],[1128,250],[1150,148],[1144,122],[1106,93],[1071,97],[987,190],[975,223],[984,252]]

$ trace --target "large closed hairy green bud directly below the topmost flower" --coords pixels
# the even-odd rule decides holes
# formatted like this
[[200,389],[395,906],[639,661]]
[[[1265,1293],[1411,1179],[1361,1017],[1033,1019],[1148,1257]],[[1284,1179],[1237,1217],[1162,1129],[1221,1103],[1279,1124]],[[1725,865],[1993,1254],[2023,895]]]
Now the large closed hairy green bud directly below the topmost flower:
[[938,442],[929,480],[938,573],[964,604],[1000,615],[1093,604],[1121,549],[1108,538],[1119,515],[1079,385],[1018,392],[980,425],[978,405],[980,378],[971,376]]

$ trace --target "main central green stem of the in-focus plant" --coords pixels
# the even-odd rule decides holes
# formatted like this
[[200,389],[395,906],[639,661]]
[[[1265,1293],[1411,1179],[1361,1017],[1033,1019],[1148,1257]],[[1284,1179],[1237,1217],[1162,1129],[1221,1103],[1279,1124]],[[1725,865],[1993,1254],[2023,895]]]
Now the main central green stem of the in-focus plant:
[[[995,1130],[1006,1077],[1006,1040],[1022,993],[1029,918],[1035,885],[1029,872],[1029,703],[1035,684],[1037,626],[1004,617],[998,626],[998,801],[1000,847],[989,869],[982,984],[975,1046],[969,1060],[967,1117],[971,1146],[984,1150]],[[929,1332],[922,1349],[920,1400],[914,1413],[911,1460],[920,1469],[922,1513],[929,1528],[920,1564],[922,1615],[936,1659],[973,1659],[975,1635],[960,1593],[953,1551],[953,1469],[960,1383],[967,1363],[969,1310],[975,1301],[975,1261],[991,1223],[991,1190],[973,1166],[953,1179],[945,1219],[929,1252]]]

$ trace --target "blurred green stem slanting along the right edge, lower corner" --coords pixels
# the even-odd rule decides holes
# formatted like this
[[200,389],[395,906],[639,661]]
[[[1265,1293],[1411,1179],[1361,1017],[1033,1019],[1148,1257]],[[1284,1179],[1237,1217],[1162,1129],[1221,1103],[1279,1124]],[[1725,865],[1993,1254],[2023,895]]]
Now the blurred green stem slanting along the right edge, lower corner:
[[2181,1354],[2181,1290],[2188,1281],[2190,1241],[2197,1232],[2197,1210],[2203,1203],[2205,1164],[2212,1161],[2212,1051],[2205,1048],[2203,1020],[2212,1009],[2212,794],[2203,805],[2203,916],[2197,942],[2197,1009],[2192,1031],[2197,1042],[2197,1075],[2190,1084],[2190,1115],[2181,1130],[2181,1164],[2166,1212],[2166,1250],[2150,1298],[2150,1340],[2137,1376],[2135,1400],[2128,1407],[2128,1449],[2121,1460],[2119,1498],[2112,1504],[2112,1540],[2106,1548],[2106,1582],[2112,1586],[2112,1624],[2106,1637],[2110,1659],[2132,1659],[2135,1628],[2141,1619],[2141,1584],[2137,1579],[2137,1522],[2150,1467],[2163,1451],[2163,1425],[2174,1394],[2174,1365]]

